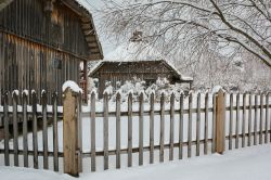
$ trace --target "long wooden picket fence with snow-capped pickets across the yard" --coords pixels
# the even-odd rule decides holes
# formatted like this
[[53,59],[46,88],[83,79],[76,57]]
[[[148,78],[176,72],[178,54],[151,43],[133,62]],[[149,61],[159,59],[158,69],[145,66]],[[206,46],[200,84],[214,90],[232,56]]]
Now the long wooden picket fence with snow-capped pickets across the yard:
[[[69,119],[77,120],[77,138],[73,145],[76,147],[74,157],[78,162],[72,164],[77,167],[76,172],[72,173],[76,175],[82,169],[95,171],[98,166],[108,169],[114,163],[116,168],[131,167],[136,163],[141,166],[146,164],[147,156],[147,162],[153,164],[165,159],[223,153],[233,146],[238,149],[271,141],[269,93],[219,93],[189,97],[181,94],[178,100],[171,94],[169,102],[164,94],[156,102],[153,93],[149,102],[143,100],[143,94],[139,102],[133,102],[131,94],[127,102],[120,101],[120,94],[115,102],[109,102],[106,93],[103,101],[98,102],[92,93],[89,106],[81,105],[80,93],[77,93],[74,95],[75,104],[72,105],[76,108],[73,111],[75,113],[68,115]],[[62,171],[60,158],[65,154],[63,152],[66,143],[62,138],[66,131],[63,108],[70,110],[72,106],[57,106],[56,99],[48,105],[46,97],[46,92],[42,92],[39,105],[35,92],[28,97],[23,93],[21,101],[13,95],[13,105],[9,106],[4,95],[0,106],[5,133],[4,141],[0,142],[0,154],[4,154],[4,165],[9,166],[10,157],[13,157],[14,165],[18,166],[21,156],[25,167],[29,165],[48,169],[52,163],[53,170]],[[27,99],[30,99],[30,103],[27,103]],[[57,123],[62,117],[64,123]],[[23,119],[23,136],[17,131],[18,119]],[[52,127],[48,125],[49,119],[52,119]],[[28,134],[27,120],[33,121]],[[39,121],[42,123],[40,131],[37,128]],[[7,136],[10,132],[13,132],[12,136]],[[75,136],[66,131],[66,136],[72,134]],[[67,140],[70,142],[73,138],[67,137]],[[29,162],[28,155],[33,156],[33,162]],[[122,155],[127,155],[125,162]],[[53,160],[50,162],[49,157]],[[43,165],[39,162],[43,162]]]

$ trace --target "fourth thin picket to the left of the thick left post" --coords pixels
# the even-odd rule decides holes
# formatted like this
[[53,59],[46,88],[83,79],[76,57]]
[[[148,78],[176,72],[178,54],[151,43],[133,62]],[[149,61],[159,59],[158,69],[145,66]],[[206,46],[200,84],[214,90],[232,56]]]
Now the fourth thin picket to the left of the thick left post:
[[24,154],[24,167],[28,167],[28,138],[27,138],[27,94],[23,92],[23,154]]

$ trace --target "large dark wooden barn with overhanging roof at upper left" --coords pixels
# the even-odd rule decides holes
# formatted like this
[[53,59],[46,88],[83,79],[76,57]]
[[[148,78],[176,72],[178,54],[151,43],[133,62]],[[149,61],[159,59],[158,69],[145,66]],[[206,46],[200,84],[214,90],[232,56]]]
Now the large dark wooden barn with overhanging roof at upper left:
[[[87,90],[87,62],[103,52],[91,13],[76,0],[0,0],[0,90]],[[81,68],[80,68],[81,67]]]

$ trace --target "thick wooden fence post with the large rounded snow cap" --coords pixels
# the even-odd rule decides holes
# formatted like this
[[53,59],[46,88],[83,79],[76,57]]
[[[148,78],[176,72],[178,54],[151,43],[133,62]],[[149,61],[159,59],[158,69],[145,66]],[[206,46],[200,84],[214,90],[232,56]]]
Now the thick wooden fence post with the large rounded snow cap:
[[63,92],[64,173],[75,177],[79,173],[77,98],[78,93],[70,88],[66,88]]

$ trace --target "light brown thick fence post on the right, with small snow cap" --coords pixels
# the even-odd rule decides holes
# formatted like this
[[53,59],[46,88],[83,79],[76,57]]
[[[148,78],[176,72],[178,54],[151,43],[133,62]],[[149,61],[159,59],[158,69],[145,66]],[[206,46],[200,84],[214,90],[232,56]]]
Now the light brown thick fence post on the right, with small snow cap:
[[216,108],[216,153],[223,154],[225,145],[225,97],[222,89],[218,91]]

